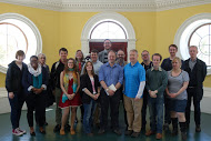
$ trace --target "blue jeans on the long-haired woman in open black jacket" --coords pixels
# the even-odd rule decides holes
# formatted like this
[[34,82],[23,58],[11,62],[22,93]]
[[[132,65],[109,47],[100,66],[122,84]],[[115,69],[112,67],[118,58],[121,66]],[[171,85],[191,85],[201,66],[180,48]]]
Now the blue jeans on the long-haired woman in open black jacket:
[[91,133],[91,125],[93,123],[93,112],[96,110],[96,101],[92,99],[89,104],[83,103],[83,131],[86,133]]

